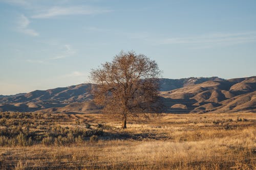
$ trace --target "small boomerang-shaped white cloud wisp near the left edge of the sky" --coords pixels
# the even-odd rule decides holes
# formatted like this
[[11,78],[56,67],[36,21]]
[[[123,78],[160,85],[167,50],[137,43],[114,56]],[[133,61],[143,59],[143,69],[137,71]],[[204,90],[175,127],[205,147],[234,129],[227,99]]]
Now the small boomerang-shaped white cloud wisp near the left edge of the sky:
[[30,20],[26,16],[21,15],[18,19],[18,28],[17,28],[18,31],[30,36],[38,36],[39,33],[37,33],[33,29],[28,28],[29,23],[30,23]]

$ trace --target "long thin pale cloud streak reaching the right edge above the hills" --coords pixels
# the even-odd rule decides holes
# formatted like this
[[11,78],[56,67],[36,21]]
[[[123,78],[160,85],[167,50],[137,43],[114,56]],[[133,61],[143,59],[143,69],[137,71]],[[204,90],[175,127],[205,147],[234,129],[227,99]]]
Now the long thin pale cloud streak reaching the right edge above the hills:
[[159,44],[186,44],[191,48],[210,48],[256,41],[256,32],[215,33],[193,37],[165,38]]

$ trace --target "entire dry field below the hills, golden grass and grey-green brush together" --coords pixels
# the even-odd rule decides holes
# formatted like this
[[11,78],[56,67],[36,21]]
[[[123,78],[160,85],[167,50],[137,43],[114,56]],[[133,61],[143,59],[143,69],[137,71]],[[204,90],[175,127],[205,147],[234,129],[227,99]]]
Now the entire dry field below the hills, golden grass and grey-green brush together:
[[1,169],[256,169],[255,113],[0,113]]

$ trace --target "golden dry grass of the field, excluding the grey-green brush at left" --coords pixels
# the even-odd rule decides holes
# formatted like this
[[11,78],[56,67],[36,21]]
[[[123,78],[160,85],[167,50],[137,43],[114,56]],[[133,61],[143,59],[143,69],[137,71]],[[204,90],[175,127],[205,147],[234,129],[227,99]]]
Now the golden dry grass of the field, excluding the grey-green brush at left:
[[[256,169],[254,113],[150,115],[130,119],[126,130],[120,129],[118,119],[101,114],[75,116],[92,126],[103,124],[98,142],[1,147],[1,168]],[[59,125],[81,126],[72,121]]]

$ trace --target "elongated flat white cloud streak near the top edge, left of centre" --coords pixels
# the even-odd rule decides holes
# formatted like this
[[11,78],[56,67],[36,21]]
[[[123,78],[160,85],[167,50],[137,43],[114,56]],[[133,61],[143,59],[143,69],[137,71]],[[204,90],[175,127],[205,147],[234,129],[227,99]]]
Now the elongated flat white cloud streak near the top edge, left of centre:
[[74,6],[74,7],[52,7],[50,9],[42,9],[38,11],[38,14],[32,16],[32,18],[52,18],[56,16],[65,15],[92,15],[111,12],[111,10],[100,9],[89,6]]

